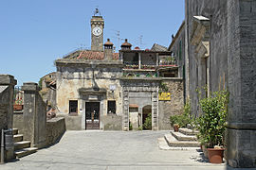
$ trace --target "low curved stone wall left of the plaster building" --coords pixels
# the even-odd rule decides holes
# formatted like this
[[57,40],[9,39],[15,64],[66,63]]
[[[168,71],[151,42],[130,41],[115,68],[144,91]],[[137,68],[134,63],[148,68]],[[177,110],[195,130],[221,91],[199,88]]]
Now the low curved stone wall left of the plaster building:
[[57,117],[46,122],[46,145],[55,144],[65,132],[64,118]]

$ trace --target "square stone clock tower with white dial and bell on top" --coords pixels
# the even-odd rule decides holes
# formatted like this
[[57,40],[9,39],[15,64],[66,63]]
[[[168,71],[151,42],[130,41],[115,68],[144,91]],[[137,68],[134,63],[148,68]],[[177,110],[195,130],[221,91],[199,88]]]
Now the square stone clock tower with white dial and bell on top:
[[[99,14],[99,16],[96,16]],[[94,16],[91,19],[91,50],[92,51],[103,51],[103,28],[104,20],[96,8]]]

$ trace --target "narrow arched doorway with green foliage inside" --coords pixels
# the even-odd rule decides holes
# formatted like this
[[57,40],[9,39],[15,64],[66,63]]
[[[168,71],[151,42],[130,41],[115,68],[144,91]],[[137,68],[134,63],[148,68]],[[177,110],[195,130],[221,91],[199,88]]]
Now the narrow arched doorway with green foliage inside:
[[142,108],[143,129],[152,129],[152,106],[147,105]]

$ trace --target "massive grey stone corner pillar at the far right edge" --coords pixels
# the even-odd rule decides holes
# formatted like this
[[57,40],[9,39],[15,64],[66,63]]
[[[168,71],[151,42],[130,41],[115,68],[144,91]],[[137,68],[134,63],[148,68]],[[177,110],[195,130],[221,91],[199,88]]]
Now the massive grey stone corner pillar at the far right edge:
[[229,115],[227,159],[232,167],[256,167],[256,2],[228,1]]

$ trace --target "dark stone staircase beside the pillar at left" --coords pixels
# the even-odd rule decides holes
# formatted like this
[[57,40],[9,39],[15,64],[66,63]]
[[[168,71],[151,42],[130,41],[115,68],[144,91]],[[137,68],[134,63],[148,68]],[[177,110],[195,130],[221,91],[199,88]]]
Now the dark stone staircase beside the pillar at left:
[[21,158],[37,151],[37,147],[30,147],[30,141],[23,141],[23,134],[18,134],[18,128],[13,128],[14,154]]

